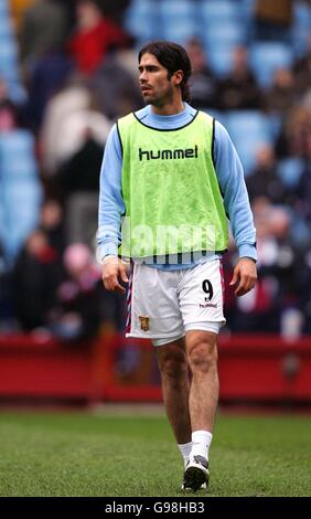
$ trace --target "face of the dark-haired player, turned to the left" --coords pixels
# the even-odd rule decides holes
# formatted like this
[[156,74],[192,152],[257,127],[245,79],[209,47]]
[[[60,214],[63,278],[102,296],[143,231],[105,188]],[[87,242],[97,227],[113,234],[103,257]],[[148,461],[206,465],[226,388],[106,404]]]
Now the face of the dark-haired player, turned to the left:
[[173,99],[174,74],[169,80],[168,70],[153,54],[143,54],[138,70],[141,93],[147,105],[163,106]]

